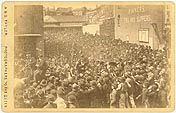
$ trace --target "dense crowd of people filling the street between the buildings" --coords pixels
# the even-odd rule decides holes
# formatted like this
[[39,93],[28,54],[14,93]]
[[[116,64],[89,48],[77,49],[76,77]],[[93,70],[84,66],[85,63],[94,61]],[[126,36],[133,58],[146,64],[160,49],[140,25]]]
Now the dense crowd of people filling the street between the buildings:
[[108,36],[45,33],[45,56],[15,61],[18,108],[166,108],[166,49]]

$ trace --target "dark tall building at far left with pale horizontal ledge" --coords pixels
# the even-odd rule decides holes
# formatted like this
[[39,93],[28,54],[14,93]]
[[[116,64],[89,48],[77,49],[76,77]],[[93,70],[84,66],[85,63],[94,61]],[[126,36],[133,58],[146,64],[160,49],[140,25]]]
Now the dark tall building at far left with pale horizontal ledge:
[[43,55],[43,6],[16,5],[14,13],[15,57]]

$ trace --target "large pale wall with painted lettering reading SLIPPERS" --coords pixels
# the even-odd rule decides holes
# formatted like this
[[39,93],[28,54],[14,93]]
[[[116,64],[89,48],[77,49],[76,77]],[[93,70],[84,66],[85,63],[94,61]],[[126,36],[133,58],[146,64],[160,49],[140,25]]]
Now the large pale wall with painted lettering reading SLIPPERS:
[[115,6],[115,38],[162,49],[165,45],[164,5]]

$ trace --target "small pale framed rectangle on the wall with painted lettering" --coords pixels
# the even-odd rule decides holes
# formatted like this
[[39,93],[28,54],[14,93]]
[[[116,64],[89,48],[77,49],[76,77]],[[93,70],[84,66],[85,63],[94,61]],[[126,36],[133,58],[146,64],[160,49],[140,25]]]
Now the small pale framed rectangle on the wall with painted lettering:
[[139,30],[139,42],[149,42],[149,29]]

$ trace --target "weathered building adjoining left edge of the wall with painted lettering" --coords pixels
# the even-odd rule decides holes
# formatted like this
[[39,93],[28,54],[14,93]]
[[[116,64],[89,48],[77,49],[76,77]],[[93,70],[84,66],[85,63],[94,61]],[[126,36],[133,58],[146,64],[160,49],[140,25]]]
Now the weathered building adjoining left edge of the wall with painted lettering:
[[[114,38],[114,6],[113,5],[100,5],[93,10],[86,12],[86,19],[89,26],[96,26],[93,31],[91,29],[91,34],[106,35]],[[86,26],[85,26],[86,28]]]

